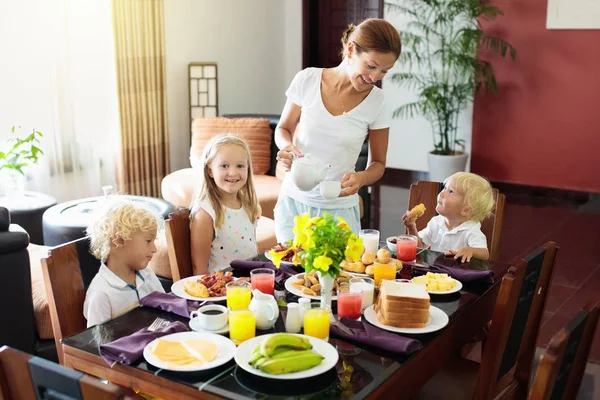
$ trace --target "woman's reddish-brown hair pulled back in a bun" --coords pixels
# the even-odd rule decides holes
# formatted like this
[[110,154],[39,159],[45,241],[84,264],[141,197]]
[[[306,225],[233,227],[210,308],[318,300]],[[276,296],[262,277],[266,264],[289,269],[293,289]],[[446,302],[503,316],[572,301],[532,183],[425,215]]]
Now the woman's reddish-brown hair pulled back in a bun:
[[398,30],[381,18],[368,18],[355,26],[348,25],[342,33],[342,58],[348,56],[348,44],[354,42],[356,52],[377,51],[392,53],[396,59],[400,57],[402,42]]

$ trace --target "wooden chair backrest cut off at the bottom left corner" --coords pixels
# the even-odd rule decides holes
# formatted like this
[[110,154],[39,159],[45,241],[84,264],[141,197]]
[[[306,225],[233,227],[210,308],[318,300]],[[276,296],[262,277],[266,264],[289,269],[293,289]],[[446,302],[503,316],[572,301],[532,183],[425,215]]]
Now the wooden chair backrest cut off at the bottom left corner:
[[4,346],[0,349],[0,394],[3,400],[124,399],[112,383]]

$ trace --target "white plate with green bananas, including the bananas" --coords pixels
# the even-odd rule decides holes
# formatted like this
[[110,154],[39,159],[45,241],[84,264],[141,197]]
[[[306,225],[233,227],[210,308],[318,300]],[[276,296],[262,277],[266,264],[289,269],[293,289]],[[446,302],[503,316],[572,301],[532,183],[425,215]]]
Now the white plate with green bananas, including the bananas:
[[273,333],[256,336],[240,344],[235,362],[243,370],[271,379],[304,379],[321,375],[338,362],[338,352],[329,343],[312,336]]

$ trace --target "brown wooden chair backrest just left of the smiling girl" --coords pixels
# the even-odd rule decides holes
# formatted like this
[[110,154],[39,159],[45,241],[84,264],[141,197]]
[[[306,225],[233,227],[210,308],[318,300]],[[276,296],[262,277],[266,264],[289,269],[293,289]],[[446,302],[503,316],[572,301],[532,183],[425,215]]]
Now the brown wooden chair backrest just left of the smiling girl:
[[181,208],[165,221],[165,236],[173,282],[193,275],[190,246],[190,210]]

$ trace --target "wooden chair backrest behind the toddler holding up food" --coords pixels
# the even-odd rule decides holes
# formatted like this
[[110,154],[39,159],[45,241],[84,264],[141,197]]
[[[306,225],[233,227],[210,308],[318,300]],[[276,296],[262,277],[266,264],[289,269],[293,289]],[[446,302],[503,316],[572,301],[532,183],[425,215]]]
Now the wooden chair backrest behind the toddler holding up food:
[[[417,230],[420,231],[425,229],[431,218],[437,215],[435,212],[437,195],[443,188],[443,183],[431,181],[419,181],[410,185],[408,209],[410,210],[420,203],[425,205],[425,213],[417,219]],[[502,231],[502,219],[504,218],[506,196],[500,193],[498,189],[492,189],[492,193],[494,195],[492,215],[481,223],[481,231],[487,239],[490,259],[498,260],[498,257],[500,256],[500,233]]]

